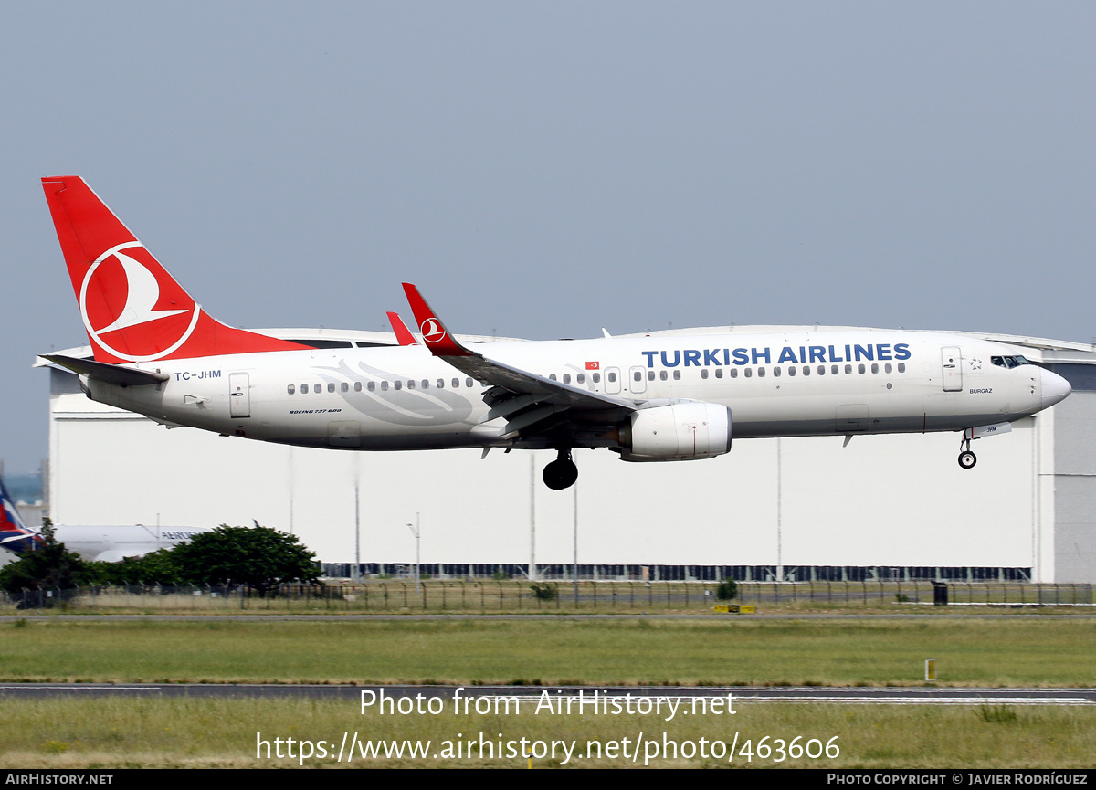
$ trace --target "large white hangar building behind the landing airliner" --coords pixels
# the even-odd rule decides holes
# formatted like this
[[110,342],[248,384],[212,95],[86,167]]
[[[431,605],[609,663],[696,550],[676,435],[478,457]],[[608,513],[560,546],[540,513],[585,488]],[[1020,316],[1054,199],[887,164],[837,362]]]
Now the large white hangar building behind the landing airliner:
[[[395,344],[376,332],[260,331],[318,347]],[[648,566],[671,579],[1096,581],[1096,347],[971,336],[1012,344],[1073,386],[1062,403],[979,440],[973,469],[956,462],[955,433],[855,436],[845,447],[840,435],[743,439],[726,456],[676,463],[576,450],[579,483],[560,492],[540,482],[547,451],[481,460],[479,450],[361,453],[167,430],[89,400],[50,367],[49,515],[254,519],[344,573],[356,551],[366,572],[413,563],[418,518],[423,564],[453,575],[569,571],[576,530],[580,572],[601,577]],[[81,351],[91,354],[65,353]]]

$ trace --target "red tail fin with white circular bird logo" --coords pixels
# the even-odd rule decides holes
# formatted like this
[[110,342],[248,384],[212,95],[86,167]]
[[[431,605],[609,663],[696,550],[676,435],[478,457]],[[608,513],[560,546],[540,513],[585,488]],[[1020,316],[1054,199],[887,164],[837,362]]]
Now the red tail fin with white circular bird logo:
[[43,179],[96,362],[306,348],[206,314],[83,180]]

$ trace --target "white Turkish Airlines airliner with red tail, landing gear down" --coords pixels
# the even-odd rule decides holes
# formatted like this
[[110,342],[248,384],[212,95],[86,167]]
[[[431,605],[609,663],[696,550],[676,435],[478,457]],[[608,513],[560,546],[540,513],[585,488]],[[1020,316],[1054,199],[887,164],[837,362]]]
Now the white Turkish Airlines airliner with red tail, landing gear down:
[[91,399],[169,426],[355,450],[555,449],[544,480],[558,490],[578,478],[574,448],[693,460],[732,436],[961,431],[969,469],[972,439],[1070,393],[1009,346],[938,332],[463,343],[409,284],[422,343],[312,348],[213,319],[81,179],[43,187],[94,359],[45,357]]

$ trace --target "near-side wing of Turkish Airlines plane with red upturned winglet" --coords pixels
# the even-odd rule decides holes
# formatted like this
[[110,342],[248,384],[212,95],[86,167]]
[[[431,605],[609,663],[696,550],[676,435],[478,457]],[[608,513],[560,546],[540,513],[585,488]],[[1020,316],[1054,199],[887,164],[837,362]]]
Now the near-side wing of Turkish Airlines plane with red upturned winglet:
[[[572,416],[595,421],[600,416],[615,421],[623,414],[636,411],[637,405],[630,400],[561,383],[489,359],[457,341],[422,298],[418,288],[404,283],[403,291],[422,332],[423,343],[431,353],[461,373],[491,386],[483,396],[491,410],[480,422],[507,417],[506,433],[511,433],[523,431],[564,410]],[[612,412],[618,412],[619,415],[614,417]]]

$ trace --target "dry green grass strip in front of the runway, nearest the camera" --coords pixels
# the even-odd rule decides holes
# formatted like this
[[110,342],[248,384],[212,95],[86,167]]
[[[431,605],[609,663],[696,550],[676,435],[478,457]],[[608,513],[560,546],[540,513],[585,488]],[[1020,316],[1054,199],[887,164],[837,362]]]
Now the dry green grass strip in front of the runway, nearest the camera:
[[[5,699],[3,702],[7,736],[0,746],[0,763],[8,768],[172,768],[172,767],[274,767],[296,766],[299,759],[256,757],[259,737],[270,741],[293,737],[296,741],[323,741],[332,755],[338,753],[343,733],[357,733],[363,740],[429,740],[431,756],[419,759],[363,760],[353,763],[306,759],[306,767],[526,767],[521,757],[480,756],[475,748],[459,759],[433,757],[445,748],[444,741],[473,740],[479,734],[488,741],[576,741],[582,751],[587,741],[608,741],[637,736],[653,740],[660,755],[650,765],[657,767],[721,767],[727,758],[688,759],[661,756],[665,737],[699,743],[699,739],[732,743],[738,734],[739,749],[730,765],[740,767],[814,768],[1020,768],[1091,767],[1096,754],[1096,710],[1093,708],[1019,707],[997,708],[991,714],[977,707],[940,706],[803,706],[752,703],[737,706],[734,715],[677,715],[672,721],[657,715],[549,715],[524,712],[520,715],[441,715],[361,714],[356,701],[317,701],[311,699],[201,699],[201,698],[57,698],[50,700]],[[256,733],[261,736],[256,737]],[[758,741],[768,737],[788,744],[802,736],[799,744],[818,739],[840,748],[833,759],[785,759],[779,753],[758,758]],[[351,742],[353,735],[347,737]],[[751,741],[754,757],[741,754]],[[817,751],[817,746],[814,747]],[[283,754],[286,754],[283,747]],[[296,751],[298,751],[297,747]],[[647,748],[644,748],[647,752]],[[787,752],[787,746],[785,746]],[[265,756],[265,751],[262,752]],[[562,751],[533,760],[533,767],[556,767]],[[632,763],[623,756],[601,759],[572,759],[572,766],[627,767],[643,765],[643,754]]]

